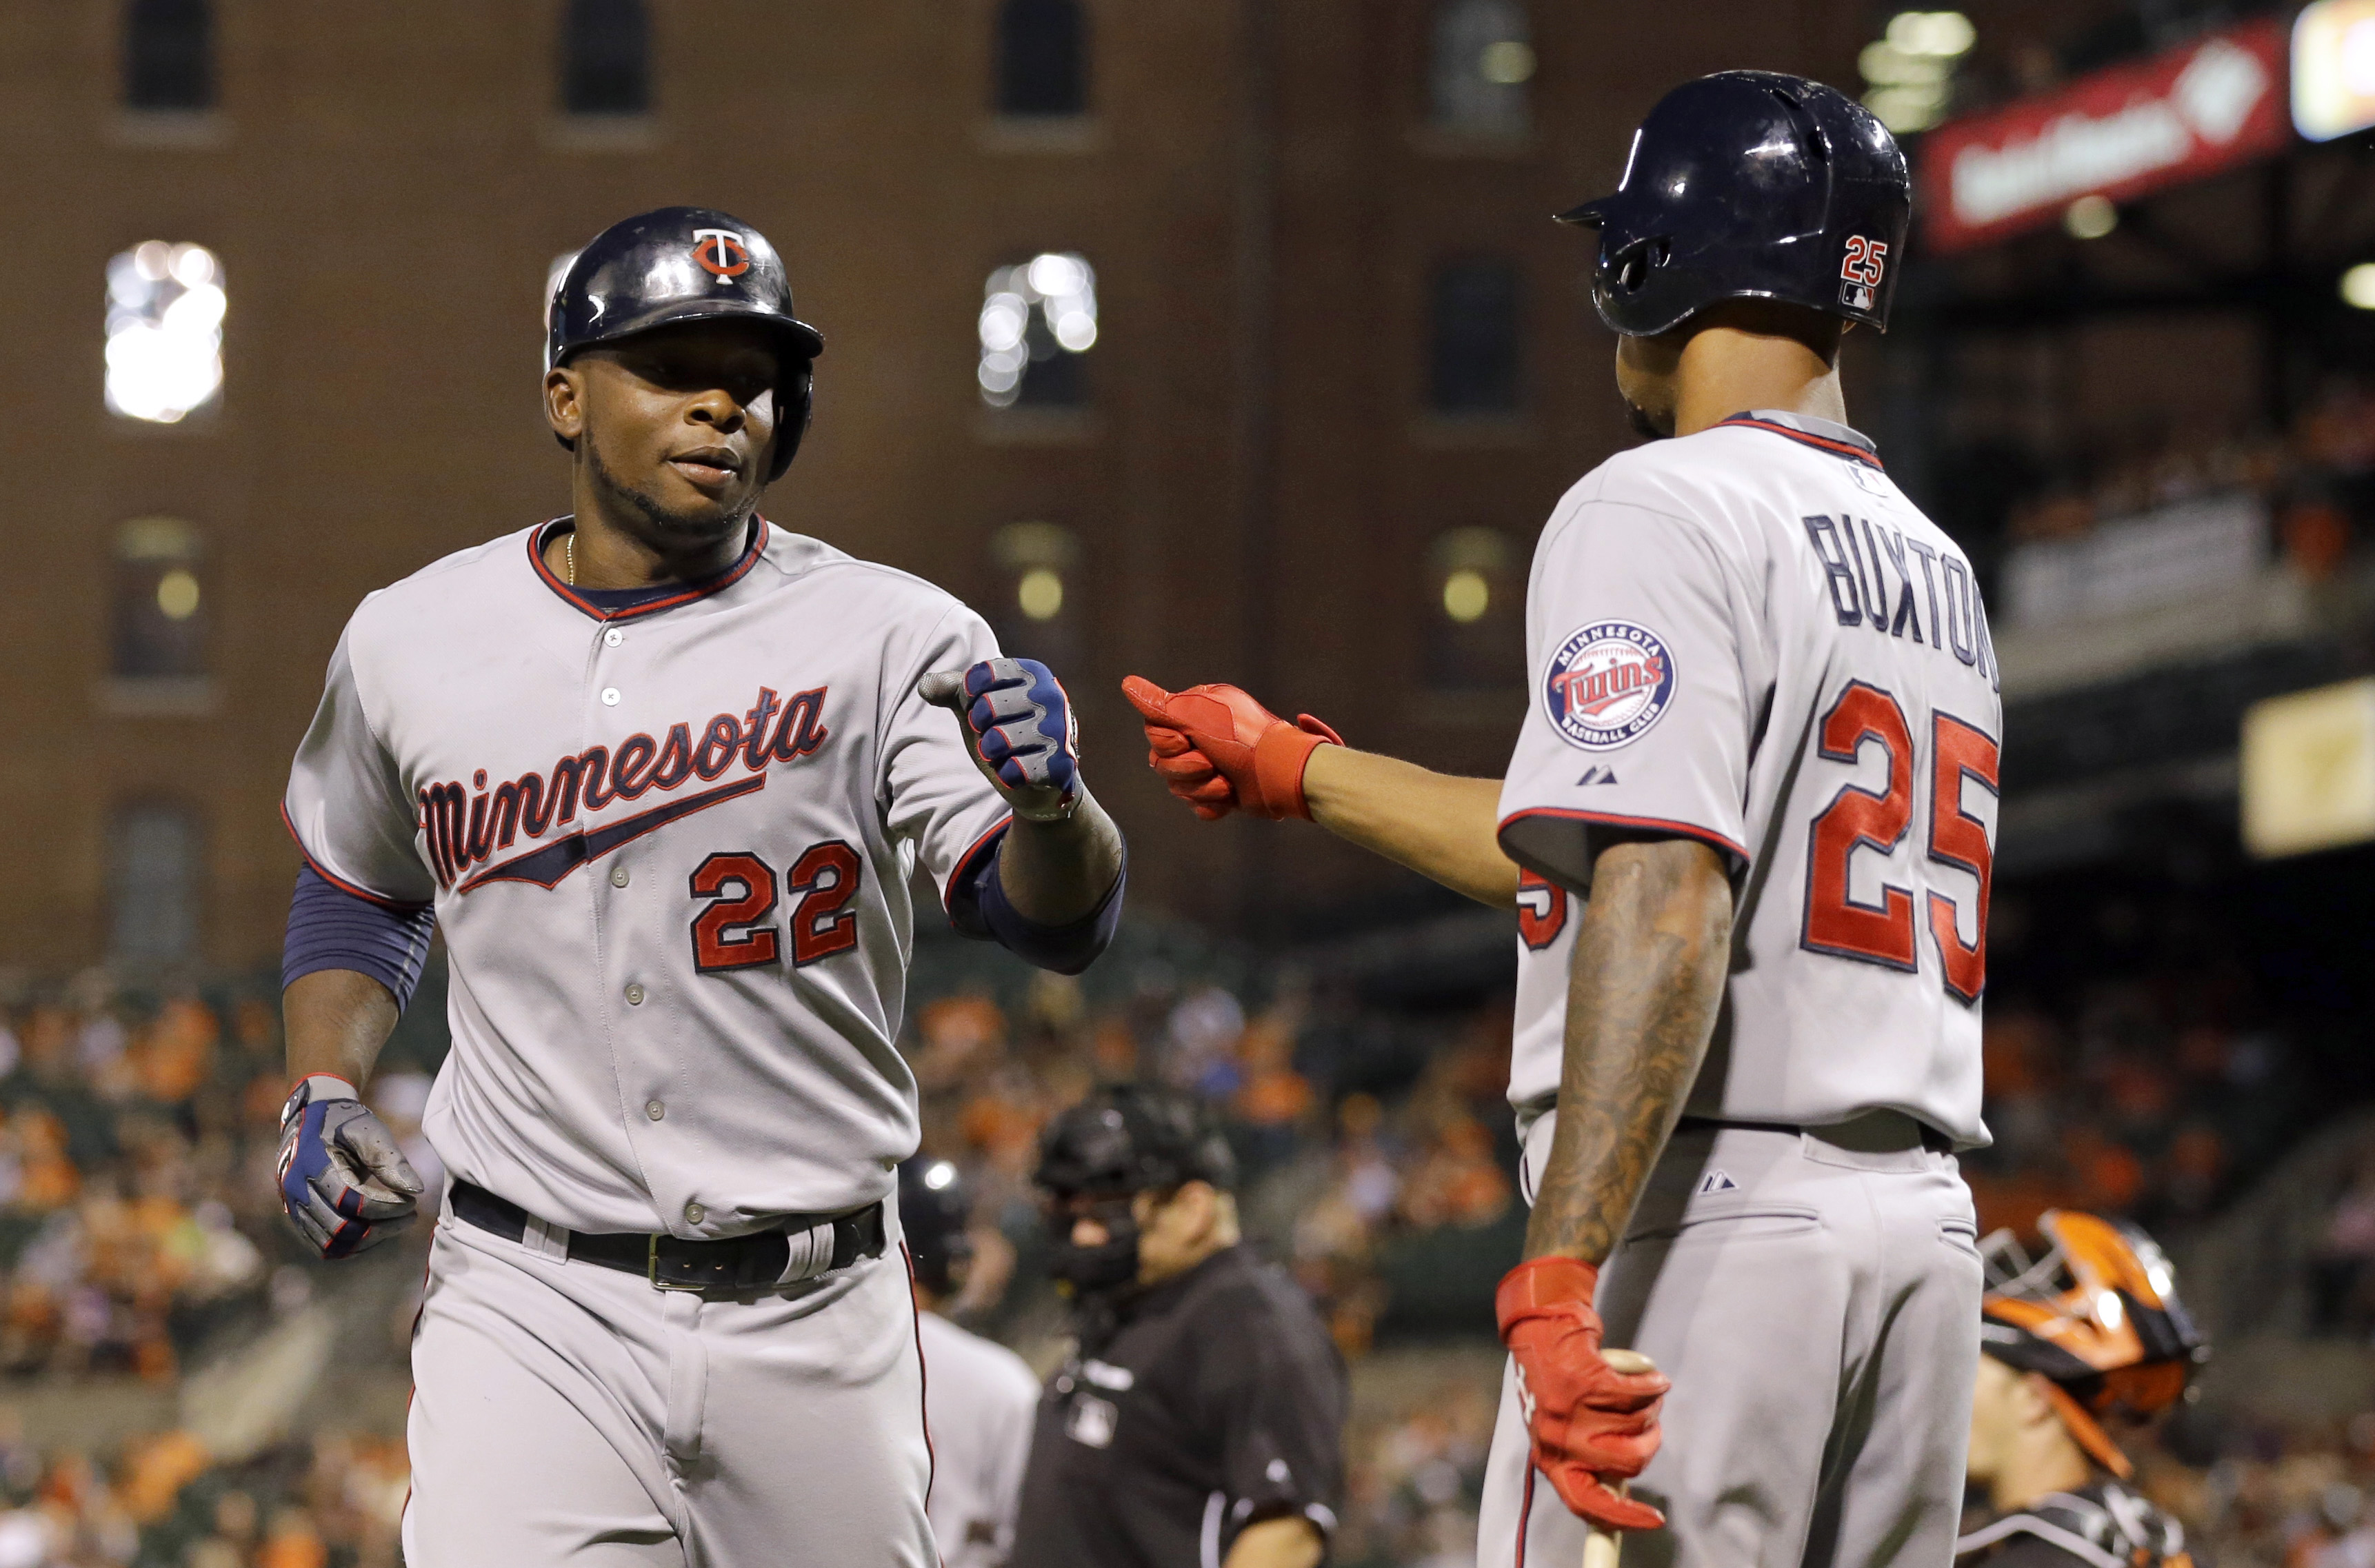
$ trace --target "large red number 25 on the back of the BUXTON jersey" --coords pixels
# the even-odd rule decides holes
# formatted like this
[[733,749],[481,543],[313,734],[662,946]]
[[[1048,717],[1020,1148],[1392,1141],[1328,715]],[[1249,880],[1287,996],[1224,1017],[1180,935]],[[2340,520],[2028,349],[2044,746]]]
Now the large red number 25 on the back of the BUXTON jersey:
[[[1919,758],[1905,722],[1905,706],[1867,682],[1848,682],[1831,710],[1822,715],[1819,751],[1826,763],[1855,765],[1864,746],[1879,741],[1888,755],[1888,789],[1872,791],[1843,784],[1838,796],[1814,817],[1805,870],[1805,934],[1814,953],[1852,957],[1917,974],[1921,941],[1914,929],[1910,889],[1881,884],[1881,903],[1857,903],[1848,886],[1855,851],[1872,848],[1893,858],[1914,822],[1914,777]],[[1974,725],[1950,713],[1931,715],[1931,798],[1928,858],[1938,865],[1971,872],[1978,881],[1978,917],[1974,938],[1962,941],[1955,900],[1928,896],[1928,929],[1938,943],[1945,988],[1964,1003],[1976,1003],[1988,986],[1988,879],[1995,853],[1988,827],[1964,808],[1964,782],[1995,794],[1997,744]]]

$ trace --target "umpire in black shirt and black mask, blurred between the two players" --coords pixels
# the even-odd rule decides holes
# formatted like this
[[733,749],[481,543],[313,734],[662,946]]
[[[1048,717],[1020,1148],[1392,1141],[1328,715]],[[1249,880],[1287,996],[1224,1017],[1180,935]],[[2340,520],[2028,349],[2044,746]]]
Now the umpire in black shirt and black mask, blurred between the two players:
[[1112,1088],[1064,1112],[1038,1186],[1078,1345],[1047,1383],[1016,1568],[1311,1568],[1344,1487],[1344,1361],[1237,1235],[1235,1159],[1197,1102]]

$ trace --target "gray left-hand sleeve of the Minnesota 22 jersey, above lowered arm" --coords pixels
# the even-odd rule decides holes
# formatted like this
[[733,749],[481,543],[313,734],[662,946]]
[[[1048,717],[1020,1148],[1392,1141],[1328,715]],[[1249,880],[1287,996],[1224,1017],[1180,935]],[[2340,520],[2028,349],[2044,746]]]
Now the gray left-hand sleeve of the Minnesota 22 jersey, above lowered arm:
[[323,879],[375,903],[420,908],[437,896],[413,839],[420,813],[363,708],[352,641],[349,625],[297,746],[280,817]]

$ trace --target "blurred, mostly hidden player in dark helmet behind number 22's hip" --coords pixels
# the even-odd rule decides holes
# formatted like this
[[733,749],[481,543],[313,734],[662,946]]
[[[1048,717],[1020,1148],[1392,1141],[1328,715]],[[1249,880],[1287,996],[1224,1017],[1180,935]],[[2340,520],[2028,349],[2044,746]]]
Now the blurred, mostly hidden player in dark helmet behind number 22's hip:
[[1014,1509],[1031,1456],[1038,1376],[1005,1345],[957,1328],[948,1311],[974,1262],[974,1193],[948,1159],[898,1169],[898,1221],[914,1264],[931,1423],[931,1535],[940,1568],[998,1568],[1014,1544]]

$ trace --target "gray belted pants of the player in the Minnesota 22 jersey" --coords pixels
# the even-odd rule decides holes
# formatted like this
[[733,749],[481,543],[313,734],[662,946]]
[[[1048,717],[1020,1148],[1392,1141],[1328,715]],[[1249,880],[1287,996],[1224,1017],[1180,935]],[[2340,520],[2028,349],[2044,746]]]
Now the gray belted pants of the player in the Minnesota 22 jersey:
[[413,1568],[933,1568],[893,1245],[703,1297],[451,1212],[413,1330]]

